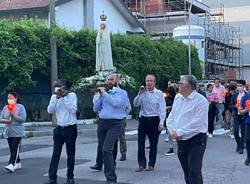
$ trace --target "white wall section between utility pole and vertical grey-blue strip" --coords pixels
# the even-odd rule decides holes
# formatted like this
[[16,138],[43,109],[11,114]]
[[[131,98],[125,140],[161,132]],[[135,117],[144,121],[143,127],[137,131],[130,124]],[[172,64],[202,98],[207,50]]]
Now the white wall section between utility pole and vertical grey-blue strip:
[[61,27],[80,30],[84,26],[83,1],[73,0],[57,7],[56,22]]

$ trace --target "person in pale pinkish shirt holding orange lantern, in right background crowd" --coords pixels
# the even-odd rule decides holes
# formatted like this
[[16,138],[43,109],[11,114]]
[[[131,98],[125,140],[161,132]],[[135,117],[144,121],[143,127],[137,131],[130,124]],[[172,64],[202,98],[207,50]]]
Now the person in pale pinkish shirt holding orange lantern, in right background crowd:
[[223,121],[223,111],[224,111],[224,103],[225,103],[225,95],[226,90],[223,85],[220,83],[220,79],[214,80],[214,87],[213,92],[217,93],[217,96],[219,98],[219,101],[216,102],[216,108],[218,110],[218,124],[221,125],[222,128],[225,128],[224,121]]

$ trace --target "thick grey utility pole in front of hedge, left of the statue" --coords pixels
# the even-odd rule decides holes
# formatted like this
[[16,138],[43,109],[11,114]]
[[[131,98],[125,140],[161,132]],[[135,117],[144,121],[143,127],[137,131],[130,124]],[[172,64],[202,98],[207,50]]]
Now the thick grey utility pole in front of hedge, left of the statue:
[[[56,26],[55,0],[50,0],[49,3],[49,26],[52,31]],[[51,52],[51,92],[54,93],[53,84],[58,78],[57,69],[57,43],[54,35],[50,36],[50,52]],[[52,115],[52,126],[56,126],[56,116]]]

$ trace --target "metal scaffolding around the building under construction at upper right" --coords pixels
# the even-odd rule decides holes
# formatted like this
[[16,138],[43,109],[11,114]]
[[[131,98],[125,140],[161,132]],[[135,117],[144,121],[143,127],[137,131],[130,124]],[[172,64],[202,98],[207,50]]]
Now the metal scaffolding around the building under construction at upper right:
[[[173,29],[192,25],[205,29],[207,79],[242,79],[243,33],[225,22],[224,6],[210,8],[197,0],[124,0],[131,12],[154,36],[172,36]],[[191,14],[188,13],[192,3]]]

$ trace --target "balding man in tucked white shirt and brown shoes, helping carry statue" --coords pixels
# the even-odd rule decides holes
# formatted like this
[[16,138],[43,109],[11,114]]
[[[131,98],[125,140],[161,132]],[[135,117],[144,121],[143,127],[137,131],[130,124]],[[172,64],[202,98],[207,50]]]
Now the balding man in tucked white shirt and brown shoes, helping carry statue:
[[[153,171],[157,144],[160,131],[166,117],[166,103],[162,91],[155,88],[155,76],[147,75],[146,88],[141,87],[138,95],[134,99],[134,106],[140,107],[138,125],[138,165],[136,172]],[[145,138],[148,136],[150,143],[149,162],[146,169],[147,160],[145,157]]]

